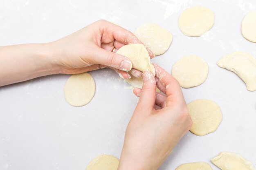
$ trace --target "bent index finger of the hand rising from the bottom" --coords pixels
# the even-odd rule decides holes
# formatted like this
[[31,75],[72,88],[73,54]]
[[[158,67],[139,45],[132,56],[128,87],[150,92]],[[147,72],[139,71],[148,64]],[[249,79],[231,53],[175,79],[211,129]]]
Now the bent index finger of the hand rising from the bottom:
[[170,106],[172,102],[184,102],[184,97],[179,82],[162,67],[154,63],[153,65],[155,66],[155,76],[166,88],[166,106]]

